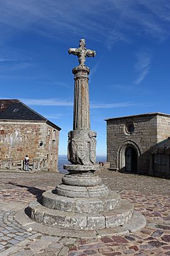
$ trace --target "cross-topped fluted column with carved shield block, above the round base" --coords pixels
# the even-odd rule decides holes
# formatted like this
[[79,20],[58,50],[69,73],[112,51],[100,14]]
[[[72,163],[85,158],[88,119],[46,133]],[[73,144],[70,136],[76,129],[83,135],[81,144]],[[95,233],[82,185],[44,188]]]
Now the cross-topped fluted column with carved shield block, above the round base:
[[[74,104],[73,104],[73,130],[68,132],[68,160],[72,165],[65,165],[80,172],[94,170],[96,164],[97,133],[90,130],[90,104],[88,92],[88,74],[90,69],[85,66],[86,57],[94,57],[96,52],[85,48],[85,39],[80,40],[80,47],[70,48],[69,54],[78,56],[79,65],[74,67]],[[80,165],[80,166],[79,166]],[[98,166],[97,166],[98,167]]]

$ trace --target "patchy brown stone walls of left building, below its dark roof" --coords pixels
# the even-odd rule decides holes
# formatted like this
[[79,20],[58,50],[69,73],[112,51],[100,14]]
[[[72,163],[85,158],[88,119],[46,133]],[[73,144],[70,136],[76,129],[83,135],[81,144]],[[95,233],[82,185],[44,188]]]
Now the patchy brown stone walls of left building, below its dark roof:
[[44,121],[1,121],[0,160],[12,159],[22,162],[29,155],[30,162],[45,160],[46,169],[57,170],[59,153],[59,130]]

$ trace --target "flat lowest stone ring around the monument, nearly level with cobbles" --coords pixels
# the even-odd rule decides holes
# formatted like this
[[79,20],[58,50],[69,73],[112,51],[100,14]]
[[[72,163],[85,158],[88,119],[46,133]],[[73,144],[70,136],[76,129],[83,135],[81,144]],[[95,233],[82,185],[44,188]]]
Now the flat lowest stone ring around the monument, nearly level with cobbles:
[[53,225],[42,225],[31,221],[27,215],[27,210],[22,209],[16,212],[15,219],[21,225],[27,225],[31,229],[40,232],[45,235],[60,236],[60,237],[77,237],[81,239],[97,239],[99,237],[106,237],[112,235],[128,235],[132,232],[136,232],[143,229],[146,225],[146,220],[144,216],[136,210],[133,211],[133,217],[127,224],[121,225],[119,227],[112,227],[108,229],[93,229],[93,230],[74,230],[74,229],[64,229],[64,227],[57,227]]

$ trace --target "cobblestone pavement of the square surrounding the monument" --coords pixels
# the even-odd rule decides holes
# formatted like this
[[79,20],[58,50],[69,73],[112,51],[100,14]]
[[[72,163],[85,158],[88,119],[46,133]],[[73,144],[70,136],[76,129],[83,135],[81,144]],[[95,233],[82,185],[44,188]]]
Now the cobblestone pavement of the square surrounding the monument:
[[98,174],[146,217],[143,230],[75,239],[28,229],[15,220],[17,210],[38,199],[44,190],[54,189],[62,174],[0,172],[0,255],[170,255],[170,180],[108,170]]

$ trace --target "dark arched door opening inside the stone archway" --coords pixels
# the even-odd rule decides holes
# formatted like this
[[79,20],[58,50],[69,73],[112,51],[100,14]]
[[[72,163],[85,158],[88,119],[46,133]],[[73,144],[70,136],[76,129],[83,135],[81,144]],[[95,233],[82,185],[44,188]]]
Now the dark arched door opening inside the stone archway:
[[138,170],[138,155],[134,147],[125,150],[125,172],[136,173]]

